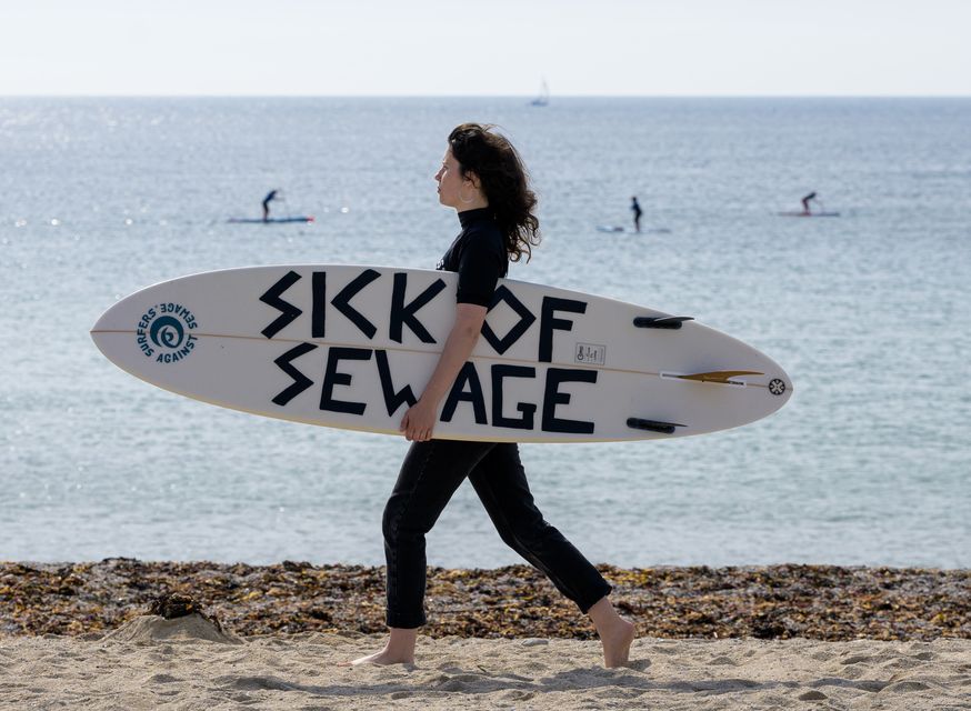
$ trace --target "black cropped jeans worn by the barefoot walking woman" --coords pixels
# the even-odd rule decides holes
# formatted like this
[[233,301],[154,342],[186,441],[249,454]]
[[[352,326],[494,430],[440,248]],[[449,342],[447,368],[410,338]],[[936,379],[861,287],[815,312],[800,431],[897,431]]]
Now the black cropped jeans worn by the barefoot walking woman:
[[426,623],[424,537],[469,478],[507,545],[587,612],[610,585],[533,503],[514,443],[431,440],[408,450],[382,529],[388,560],[388,627]]

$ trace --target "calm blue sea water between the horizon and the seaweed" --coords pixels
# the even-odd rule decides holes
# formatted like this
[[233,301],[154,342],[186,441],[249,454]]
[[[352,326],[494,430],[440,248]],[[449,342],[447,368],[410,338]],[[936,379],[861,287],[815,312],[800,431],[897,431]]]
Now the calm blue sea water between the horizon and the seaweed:
[[[176,397],[88,330],[191,272],[433,267],[464,120],[501,124],[540,194],[513,278],[694,316],[795,382],[729,432],[524,445],[590,559],[971,567],[969,100],[0,100],[0,559],[382,562],[403,440]],[[226,222],[277,187],[317,222]],[[841,216],[777,216],[810,190]],[[632,194],[670,232],[594,230]],[[469,485],[428,549],[518,561]]]

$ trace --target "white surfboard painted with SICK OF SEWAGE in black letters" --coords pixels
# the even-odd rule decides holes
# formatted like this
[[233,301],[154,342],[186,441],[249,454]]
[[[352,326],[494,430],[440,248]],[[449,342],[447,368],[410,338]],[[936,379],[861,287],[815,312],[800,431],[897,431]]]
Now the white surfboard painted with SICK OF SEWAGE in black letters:
[[[189,398],[397,434],[452,327],[457,278],[331,264],[203,272],[126,297],[91,337],[122,370]],[[434,437],[668,439],[752,422],[791,394],[768,356],[691,317],[503,279]]]

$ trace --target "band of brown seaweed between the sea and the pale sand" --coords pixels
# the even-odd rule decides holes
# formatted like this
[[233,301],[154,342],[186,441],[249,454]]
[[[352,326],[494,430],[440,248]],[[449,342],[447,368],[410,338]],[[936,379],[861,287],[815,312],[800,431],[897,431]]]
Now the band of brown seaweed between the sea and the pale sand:
[[[971,639],[971,570],[598,565],[639,637],[820,641]],[[100,635],[186,595],[240,637],[386,631],[382,567],[0,562],[0,637]],[[428,638],[594,639],[539,571],[429,568]]]

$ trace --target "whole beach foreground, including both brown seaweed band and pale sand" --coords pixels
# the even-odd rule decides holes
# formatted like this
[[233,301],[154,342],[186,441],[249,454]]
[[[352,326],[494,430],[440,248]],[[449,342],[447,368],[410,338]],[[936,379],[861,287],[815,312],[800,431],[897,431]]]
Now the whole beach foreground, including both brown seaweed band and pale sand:
[[971,709],[971,572],[602,565],[639,639],[527,567],[429,569],[413,667],[383,570],[108,559],[0,563],[0,709]]

